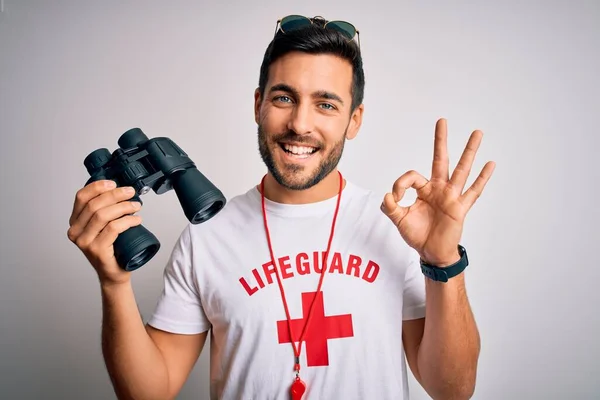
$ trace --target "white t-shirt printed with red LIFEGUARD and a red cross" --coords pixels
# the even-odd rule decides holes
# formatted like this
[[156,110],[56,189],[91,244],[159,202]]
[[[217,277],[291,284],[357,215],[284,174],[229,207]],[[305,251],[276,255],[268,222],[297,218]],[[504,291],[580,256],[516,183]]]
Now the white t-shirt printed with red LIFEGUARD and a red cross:
[[[342,191],[329,271],[301,349],[307,400],[408,399],[402,321],[425,316],[425,277],[417,253],[380,210],[382,199],[351,182]],[[296,340],[336,201],[266,200]],[[294,350],[256,187],[183,230],[149,324],[182,334],[212,329],[211,399],[289,398]]]

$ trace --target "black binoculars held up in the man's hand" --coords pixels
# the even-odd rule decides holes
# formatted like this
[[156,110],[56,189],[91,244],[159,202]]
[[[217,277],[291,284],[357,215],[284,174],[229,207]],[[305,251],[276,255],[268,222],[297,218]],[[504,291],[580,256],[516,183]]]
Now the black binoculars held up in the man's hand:
[[[223,193],[197,168],[188,155],[171,139],[148,137],[139,128],[123,133],[119,148],[113,153],[102,148],[91,152],[83,161],[91,182],[110,179],[118,187],[132,186],[136,194],[130,201],[152,189],[156,194],[175,190],[186,218],[200,224],[215,216],[225,206]],[[143,225],[129,228],[114,242],[117,262],[126,271],[146,264],[160,249],[160,242]]]

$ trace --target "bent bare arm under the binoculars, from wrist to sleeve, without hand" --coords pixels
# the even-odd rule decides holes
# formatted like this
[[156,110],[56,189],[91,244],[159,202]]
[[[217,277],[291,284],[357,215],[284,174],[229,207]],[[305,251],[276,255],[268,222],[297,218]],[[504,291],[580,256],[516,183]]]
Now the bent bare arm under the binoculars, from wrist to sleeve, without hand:
[[206,332],[176,335],[144,327],[130,283],[102,285],[102,351],[119,399],[174,399]]

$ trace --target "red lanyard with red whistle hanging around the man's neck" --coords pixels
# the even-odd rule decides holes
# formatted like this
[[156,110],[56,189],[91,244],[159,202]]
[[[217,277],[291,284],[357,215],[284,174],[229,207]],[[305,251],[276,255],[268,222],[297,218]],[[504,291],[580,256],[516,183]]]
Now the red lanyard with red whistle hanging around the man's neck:
[[302,398],[302,395],[304,394],[304,392],[306,390],[306,384],[302,380],[300,380],[300,351],[302,350],[302,341],[304,340],[304,335],[306,334],[306,329],[308,327],[308,324],[310,323],[310,317],[312,316],[312,311],[313,311],[314,305],[316,303],[317,296],[318,296],[319,292],[321,291],[321,285],[323,284],[323,278],[325,277],[325,271],[327,270],[327,265],[326,265],[327,258],[329,256],[329,250],[331,249],[331,242],[333,240],[333,233],[335,230],[335,222],[337,220],[338,211],[340,209],[340,200],[342,197],[342,187],[343,187],[343,182],[344,182],[341,172],[338,171],[338,175],[340,177],[340,187],[339,187],[339,191],[338,191],[337,203],[335,206],[335,213],[333,214],[333,221],[331,223],[331,233],[329,234],[329,242],[327,243],[327,251],[325,252],[325,257],[323,259],[323,266],[321,269],[321,277],[319,279],[319,286],[317,287],[317,293],[315,294],[312,304],[310,305],[310,309],[308,311],[308,317],[306,319],[306,323],[304,324],[304,328],[302,329],[302,334],[300,335],[300,343],[299,343],[298,347],[296,347],[296,343],[294,342],[294,336],[292,335],[290,312],[288,310],[287,300],[285,299],[285,292],[283,290],[283,285],[281,284],[281,278],[279,277],[279,269],[277,268],[277,263],[275,262],[275,255],[273,253],[273,246],[271,244],[271,235],[269,233],[269,226],[267,224],[267,211],[266,211],[266,207],[265,207],[265,177],[263,177],[263,179],[260,183],[263,220],[265,223],[267,242],[269,244],[269,252],[271,253],[271,261],[273,262],[273,267],[275,267],[275,276],[277,277],[277,283],[279,284],[279,291],[281,292],[281,299],[283,301],[283,307],[285,308],[285,315],[287,317],[287,322],[288,322],[287,325],[288,325],[288,330],[289,330],[289,334],[290,334],[290,339],[292,342],[292,347],[294,348],[294,356],[295,356],[294,370],[296,371],[296,379],[294,380],[294,383],[292,383],[292,387],[291,387],[292,399]]

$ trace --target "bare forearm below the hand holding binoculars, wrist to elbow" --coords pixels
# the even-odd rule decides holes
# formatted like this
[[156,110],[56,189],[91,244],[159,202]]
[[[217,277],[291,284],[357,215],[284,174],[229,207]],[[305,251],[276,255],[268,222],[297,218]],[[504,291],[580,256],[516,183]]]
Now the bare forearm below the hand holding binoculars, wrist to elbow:
[[119,399],[166,399],[168,371],[140,316],[131,284],[102,286],[102,351]]

